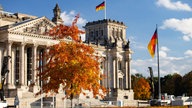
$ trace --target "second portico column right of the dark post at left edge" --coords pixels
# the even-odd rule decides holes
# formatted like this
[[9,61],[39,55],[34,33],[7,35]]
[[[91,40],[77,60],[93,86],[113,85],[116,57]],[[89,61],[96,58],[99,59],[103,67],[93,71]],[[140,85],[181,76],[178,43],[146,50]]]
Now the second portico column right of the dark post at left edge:
[[25,85],[25,43],[21,43],[20,45],[20,84],[23,86]]

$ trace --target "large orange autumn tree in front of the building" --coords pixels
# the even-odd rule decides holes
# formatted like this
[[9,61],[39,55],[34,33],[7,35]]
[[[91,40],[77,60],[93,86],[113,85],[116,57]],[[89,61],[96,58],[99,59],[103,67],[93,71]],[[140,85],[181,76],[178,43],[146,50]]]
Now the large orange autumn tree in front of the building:
[[[60,89],[66,92],[66,97],[79,95],[89,90],[94,96],[104,96],[105,88],[99,84],[102,79],[98,57],[92,47],[81,42],[79,34],[84,33],[76,26],[78,16],[71,26],[59,25],[49,31],[49,35],[59,40],[58,44],[48,47],[41,77],[43,82],[40,93],[58,93]],[[64,38],[71,41],[64,41]],[[42,67],[40,67],[42,68]],[[102,90],[103,93],[99,92]]]

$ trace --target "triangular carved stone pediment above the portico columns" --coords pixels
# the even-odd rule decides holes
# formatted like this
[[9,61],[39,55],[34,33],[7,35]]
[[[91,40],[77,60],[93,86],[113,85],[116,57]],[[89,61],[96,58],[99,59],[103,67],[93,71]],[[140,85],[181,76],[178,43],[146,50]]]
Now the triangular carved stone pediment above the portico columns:
[[56,25],[52,21],[50,21],[46,17],[41,17],[10,25],[8,31],[19,34],[23,33],[23,34],[44,35],[54,26]]

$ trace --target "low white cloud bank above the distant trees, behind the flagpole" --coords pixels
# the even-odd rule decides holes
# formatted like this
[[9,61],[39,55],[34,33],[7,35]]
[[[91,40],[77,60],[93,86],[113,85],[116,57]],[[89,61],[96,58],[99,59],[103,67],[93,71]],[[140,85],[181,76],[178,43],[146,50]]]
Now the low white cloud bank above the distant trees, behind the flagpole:
[[[165,76],[168,74],[178,73],[180,75],[184,75],[184,73],[188,73],[192,70],[191,64],[192,61],[189,59],[192,57],[192,50],[187,50],[185,52],[184,57],[173,57],[168,56],[171,50],[166,47],[162,46],[159,51],[159,66],[160,66],[160,76]],[[156,54],[157,56],[157,54]],[[154,76],[158,76],[158,69],[157,69],[157,58],[154,57],[153,59],[145,59],[145,60],[132,60],[131,62],[131,73],[140,73],[145,77],[149,77],[149,70],[148,67],[153,68]]]

